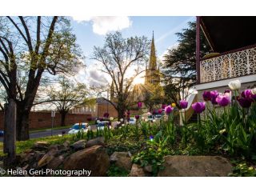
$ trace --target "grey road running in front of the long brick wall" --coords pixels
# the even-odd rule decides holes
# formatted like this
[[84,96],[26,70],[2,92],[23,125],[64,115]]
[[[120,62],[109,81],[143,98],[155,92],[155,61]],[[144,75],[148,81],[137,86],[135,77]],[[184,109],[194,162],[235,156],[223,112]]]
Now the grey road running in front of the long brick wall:
[[[90,126],[92,130],[96,129],[95,125]],[[66,128],[66,129],[62,129],[62,130],[53,130],[53,135],[58,135],[58,134],[62,134],[62,132],[67,133],[70,129]],[[51,130],[43,130],[43,131],[38,131],[38,132],[33,132],[30,133],[30,138],[45,138],[51,136]],[[3,141],[3,137],[0,138],[0,142]]]

